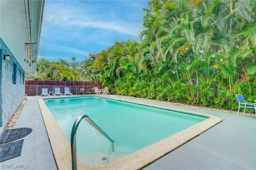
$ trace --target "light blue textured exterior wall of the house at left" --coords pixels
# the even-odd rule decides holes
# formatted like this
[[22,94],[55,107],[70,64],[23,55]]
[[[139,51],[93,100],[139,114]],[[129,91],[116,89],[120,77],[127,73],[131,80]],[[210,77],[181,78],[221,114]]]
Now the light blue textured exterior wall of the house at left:
[[[5,61],[4,55],[11,55],[11,61]],[[23,55],[23,54],[21,54]],[[4,130],[8,121],[18,109],[25,97],[25,73],[18,61],[12,55],[0,38],[0,57],[1,57],[1,117],[0,134]],[[16,68],[15,68],[16,67]],[[16,73],[15,73],[16,70]],[[16,84],[15,84],[16,83]]]

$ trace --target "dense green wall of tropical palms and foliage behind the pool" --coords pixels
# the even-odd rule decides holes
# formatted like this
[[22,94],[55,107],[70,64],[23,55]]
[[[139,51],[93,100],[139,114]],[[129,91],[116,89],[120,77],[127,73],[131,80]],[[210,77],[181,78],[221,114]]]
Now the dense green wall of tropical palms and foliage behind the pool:
[[152,0],[148,4],[140,42],[115,42],[81,63],[75,57],[71,63],[42,60],[38,75],[102,81],[112,94],[231,110],[238,108],[235,94],[254,102],[256,1]]

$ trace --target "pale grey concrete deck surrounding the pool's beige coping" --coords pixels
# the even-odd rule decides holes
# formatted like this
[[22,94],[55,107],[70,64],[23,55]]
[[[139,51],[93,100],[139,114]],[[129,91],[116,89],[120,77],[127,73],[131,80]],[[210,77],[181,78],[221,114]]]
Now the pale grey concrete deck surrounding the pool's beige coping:
[[[223,120],[196,138],[184,142],[185,144],[149,164],[144,169],[256,169],[255,117],[242,115],[236,117],[236,115],[230,113],[168,105],[161,102],[154,103],[146,99],[111,97],[171,107],[188,112],[206,113],[220,117]],[[28,97],[14,128],[28,127],[32,128],[33,131],[24,137],[21,156],[1,162],[1,168],[8,165],[23,164],[28,165],[28,169],[57,169],[38,105],[37,99],[42,98],[48,97]],[[62,141],[59,143],[61,144]],[[155,150],[155,148],[152,149]],[[141,158],[144,159],[144,155]],[[66,166],[63,169],[70,169],[70,167]],[[109,169],[113,169],[113,167],[110,166]],[[136,165],[126,164],[124,167],[118,168],[117,166],[115,169],[136,169]]]

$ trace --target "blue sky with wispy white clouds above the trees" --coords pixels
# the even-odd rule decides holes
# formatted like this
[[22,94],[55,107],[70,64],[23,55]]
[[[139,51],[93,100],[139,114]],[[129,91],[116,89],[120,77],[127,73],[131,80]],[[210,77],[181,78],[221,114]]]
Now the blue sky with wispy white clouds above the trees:
[[58,61],[107,50],[115,42],[136,40],[149,0],[45,0],[38,59]]

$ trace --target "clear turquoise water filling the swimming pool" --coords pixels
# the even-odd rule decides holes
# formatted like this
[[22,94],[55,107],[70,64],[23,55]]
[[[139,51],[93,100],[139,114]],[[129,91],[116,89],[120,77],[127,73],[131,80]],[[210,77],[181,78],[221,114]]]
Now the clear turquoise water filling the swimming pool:
[[76,135],[77,152],[91,166],[113,162],[207,119],[100,97],[44,99],[44,102],[68,140],[74,121],[87,115],[115,141],[115,152],[111,152],[111,142],[89,123],[81,121]]

